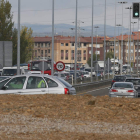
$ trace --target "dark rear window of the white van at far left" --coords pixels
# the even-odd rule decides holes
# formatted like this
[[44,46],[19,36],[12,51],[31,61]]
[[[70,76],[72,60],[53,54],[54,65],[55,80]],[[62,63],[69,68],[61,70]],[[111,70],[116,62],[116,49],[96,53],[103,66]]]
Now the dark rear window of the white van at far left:
[[[20,73],[21,73],[21,70],[20,70]],[[3,76],[17,75],[17,69],[3,69],[2,75]]]

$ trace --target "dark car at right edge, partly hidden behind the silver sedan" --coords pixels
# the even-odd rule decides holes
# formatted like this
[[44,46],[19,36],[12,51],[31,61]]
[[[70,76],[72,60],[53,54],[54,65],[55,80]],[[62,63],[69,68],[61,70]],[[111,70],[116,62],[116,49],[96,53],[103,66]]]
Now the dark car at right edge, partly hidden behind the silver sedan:
[[126,78],[125,80],[126,82],[131,82],[133,83],[135,89],[137,90],[138,92],[138,97],[140,97],[140,78]]

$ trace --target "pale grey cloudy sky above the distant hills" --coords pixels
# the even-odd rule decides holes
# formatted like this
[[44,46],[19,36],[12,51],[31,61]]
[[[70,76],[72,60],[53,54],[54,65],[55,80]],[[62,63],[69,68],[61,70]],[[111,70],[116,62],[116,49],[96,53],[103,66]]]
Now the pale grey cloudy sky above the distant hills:
[[[52,0],[20,0],[21,1],[21,25],[24,24],[42,24],[51,25],[52,23]],[[55,1],[55,24],[75,25],[75,7],[76,0],[54,0]],[[122,24],[122,4],[119,0],[106,0],[106,24],[115,26],[115,1],[116,1],[116,24]],[[18,20],[18,0],[9,0],[12,5],[13,21]],[[125,9],[130,7],[133,2],[139,0],[126,0],[123,4],[123,26],[128,28],[129,11]],[[80,26],[91,26],[92,24],[92,0],[78,0],[78,20]],[[104,24],[105,0],[94,0],[94,25]],[[132,19],[132,22],[137,19]],[[15,24],[16,25],[16,24]],[[134,30],[138,29],[138,24],[134,25]],[[109,29],[107,29],[109,30]],[[99,31],[103,33],[103,30]]]

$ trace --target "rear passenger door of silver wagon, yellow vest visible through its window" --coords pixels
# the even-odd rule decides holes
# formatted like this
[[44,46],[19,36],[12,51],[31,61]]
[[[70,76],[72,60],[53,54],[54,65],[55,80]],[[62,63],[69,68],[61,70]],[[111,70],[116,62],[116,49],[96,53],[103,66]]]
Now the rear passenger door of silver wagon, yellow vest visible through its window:
[[21,94],[47,94],[48,87],[43,77],[29,76],[25,89]]

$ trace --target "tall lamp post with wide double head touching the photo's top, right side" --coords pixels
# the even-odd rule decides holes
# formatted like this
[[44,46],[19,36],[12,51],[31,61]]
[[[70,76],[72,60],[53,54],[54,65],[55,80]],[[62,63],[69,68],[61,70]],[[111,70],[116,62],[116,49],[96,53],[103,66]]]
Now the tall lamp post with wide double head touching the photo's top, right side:
[[122,75],[122,64],[123,64],[123,4],[126,4],[127,2],[122,1],[122,2],[118,2],[120,4],[122,4],[122,41],[121,41],[121,75]]

